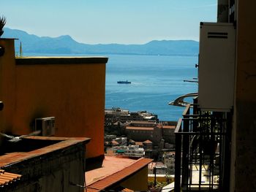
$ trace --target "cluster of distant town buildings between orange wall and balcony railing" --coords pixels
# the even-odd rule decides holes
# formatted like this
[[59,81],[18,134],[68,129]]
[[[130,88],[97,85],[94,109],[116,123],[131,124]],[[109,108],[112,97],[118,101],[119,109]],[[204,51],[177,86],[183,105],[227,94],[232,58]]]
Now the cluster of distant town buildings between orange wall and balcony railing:
[[[176,125],[176,121],[159,121],[146,111],[105,110],[105,153],[153,158],[151,166],[157,166],[157,174],[173,174]],[[149,174],[153,172],[148,168]]]

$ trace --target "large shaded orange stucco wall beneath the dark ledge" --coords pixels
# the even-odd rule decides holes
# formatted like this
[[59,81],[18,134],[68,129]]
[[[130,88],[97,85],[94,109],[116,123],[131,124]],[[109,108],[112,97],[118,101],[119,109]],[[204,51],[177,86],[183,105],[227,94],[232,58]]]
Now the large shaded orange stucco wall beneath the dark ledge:
[[[29,134],[35,118],[53,116],[56,137],[89,137],[86,156],[102,155],[108,59],[16,58],[11,63],[10,60],[6,57],[1,61],[2,66],[12,65],[15,70],[7,70],[4,73],[10,75],[2,77],[6,81],[4,86],[11,87],[8,95],[12,96],[11,107],[4,105],[3,113],[10,116],[4,128],[12,134]],[[12,79],[12,84],[6,78]]]

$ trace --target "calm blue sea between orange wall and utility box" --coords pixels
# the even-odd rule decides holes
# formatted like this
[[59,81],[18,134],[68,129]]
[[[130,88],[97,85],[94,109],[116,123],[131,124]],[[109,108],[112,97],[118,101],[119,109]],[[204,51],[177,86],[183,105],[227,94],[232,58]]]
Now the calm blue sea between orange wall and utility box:
[[[108,55],[105,107],[146,110],[159,120],[178,120],[184,107],[168,105],[178,96],[197,92],[196,56]],[[131,84],[118,84],[129,80]]]

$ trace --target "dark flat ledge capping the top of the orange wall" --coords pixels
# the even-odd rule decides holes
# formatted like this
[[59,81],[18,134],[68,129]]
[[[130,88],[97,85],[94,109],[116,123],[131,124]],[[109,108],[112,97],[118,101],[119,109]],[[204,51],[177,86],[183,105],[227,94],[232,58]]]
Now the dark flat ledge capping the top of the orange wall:
[[106,57],[24,57],[15,58],[17,65],[41,64],[106,64]]

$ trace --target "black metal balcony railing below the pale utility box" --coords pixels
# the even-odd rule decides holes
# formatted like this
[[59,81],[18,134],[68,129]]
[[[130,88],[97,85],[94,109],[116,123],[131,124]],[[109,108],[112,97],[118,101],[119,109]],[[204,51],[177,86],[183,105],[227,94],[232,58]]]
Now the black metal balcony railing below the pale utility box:
[[[190,115],[190,112],[193,112]],[[178,120],[175,191],[223,191],[229,186],[230,114],[189,104]]]

